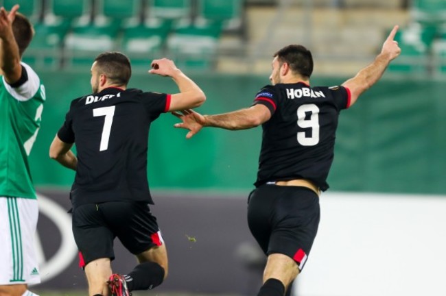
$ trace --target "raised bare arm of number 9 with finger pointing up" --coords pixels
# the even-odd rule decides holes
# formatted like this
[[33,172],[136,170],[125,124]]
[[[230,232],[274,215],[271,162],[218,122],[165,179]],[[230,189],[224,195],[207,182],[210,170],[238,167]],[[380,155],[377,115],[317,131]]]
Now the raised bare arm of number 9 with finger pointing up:
[[342,84],[349,88],[351,93],[351,103],[350,106],[355,103],[357,98],[364,93],[368,88],[373,86],[384,74],[388,64],[393,59],[399,56],[401,49],[398,46],[398,42],[393,40],[395,34],[397,34],[398,26],[393,27],[392,32],[390,32],[386,41],[382,46],[381,53],[375,58],[375,60],[366,66],[364,69],[359,71],[355,77],[347,80]]

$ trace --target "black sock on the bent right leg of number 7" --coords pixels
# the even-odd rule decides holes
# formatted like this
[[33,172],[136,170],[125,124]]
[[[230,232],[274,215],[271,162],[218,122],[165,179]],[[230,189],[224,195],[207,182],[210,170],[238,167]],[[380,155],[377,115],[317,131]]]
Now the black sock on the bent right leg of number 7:
[[129,291],[148,290],[163,282],[164,269],[158,263],[143,262],[124,277]]

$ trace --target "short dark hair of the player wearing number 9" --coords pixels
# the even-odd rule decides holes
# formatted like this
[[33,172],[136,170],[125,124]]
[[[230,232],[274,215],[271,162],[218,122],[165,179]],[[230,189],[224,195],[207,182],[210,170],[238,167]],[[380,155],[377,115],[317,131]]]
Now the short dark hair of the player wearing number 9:
[[313,73],[313,56],[302,45],[287,45],[274,53],[279,63],[287,63],[294,73],[309,78]]

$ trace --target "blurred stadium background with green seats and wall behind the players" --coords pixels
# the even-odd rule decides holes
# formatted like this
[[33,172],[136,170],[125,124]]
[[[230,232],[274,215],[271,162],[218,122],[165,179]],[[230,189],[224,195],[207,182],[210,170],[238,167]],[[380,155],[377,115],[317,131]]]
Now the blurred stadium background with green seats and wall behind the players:
[[[31,153],[40,195],[40,295],[86,295],[71,238],[73,173],[48,147],[69,102],[91,91],[91,62],[126,53],[130,87],[176,92],[147,74],[171,58],[207,93],[200,112],[249,106],[268,84],[272,54],[312,50],[312,84],[336,85],[366,66],[393,25],[402,53],[383,79],[342,112],[331,189],[298,296],[438,295],[446,277],[446,1],[444,0],[3,0],[21,5],[36,36],[23,60],[47,90]],[[255,295],[264,258],[245,221],[261,130],[203,130],[191,140],[161,116],[148,176],[170,256],[169,278],[137,295]],[[134,259],[117,242],[113,268]],[[82,291],[82,292],[78,292]]]

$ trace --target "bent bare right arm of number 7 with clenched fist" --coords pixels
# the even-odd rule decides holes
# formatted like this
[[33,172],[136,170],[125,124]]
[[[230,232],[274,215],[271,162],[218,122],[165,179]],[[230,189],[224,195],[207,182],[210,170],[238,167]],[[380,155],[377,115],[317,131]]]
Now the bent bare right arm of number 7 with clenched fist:
[[172,77],[180,89],[180,93],[172,95],[168,111],[196,108],[201,106],[206,100],[206,96],[201,88],[187,77],[185,73],[176,68],[172,60],[167,60],[166,58],[154,60],[149,73]]

